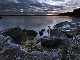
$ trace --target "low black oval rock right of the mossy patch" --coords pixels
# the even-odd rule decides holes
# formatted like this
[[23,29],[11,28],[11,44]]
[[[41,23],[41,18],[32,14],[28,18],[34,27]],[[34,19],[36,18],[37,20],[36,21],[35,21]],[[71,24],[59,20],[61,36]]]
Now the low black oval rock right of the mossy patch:
[[59,45],[61,45],[62,43],[62,39],[57,39],[57,38],[47,38],[47,39],[44,39],[41,40],[41,45],[43,47],[47,47],[47,48],[54,48],[54,47],[58,47]]

